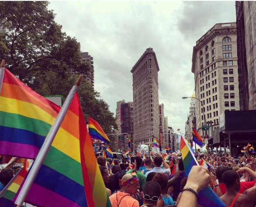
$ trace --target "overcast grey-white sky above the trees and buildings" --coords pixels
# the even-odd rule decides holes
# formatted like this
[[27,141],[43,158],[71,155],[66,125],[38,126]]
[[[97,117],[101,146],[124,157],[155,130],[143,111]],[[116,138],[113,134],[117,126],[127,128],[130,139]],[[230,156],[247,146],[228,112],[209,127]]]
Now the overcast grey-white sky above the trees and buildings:
[[235,22],[235,1],[50,1],[55,21],[94,62],[94,88],[115,114],[133,101],[131,69],[147,48],[159,64],[159,104],[174,132],[185,133],[196,41],[214,24]]

